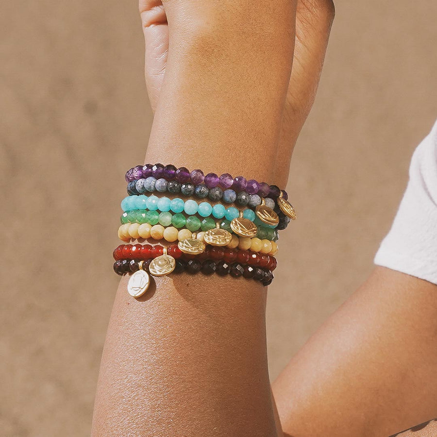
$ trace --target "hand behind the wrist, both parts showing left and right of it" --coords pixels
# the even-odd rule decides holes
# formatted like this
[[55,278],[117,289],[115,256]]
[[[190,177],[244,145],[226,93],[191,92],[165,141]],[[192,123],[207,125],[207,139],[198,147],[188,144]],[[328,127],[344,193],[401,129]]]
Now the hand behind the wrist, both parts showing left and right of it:
[[[139,0],[145,38],[145,78],[153,112],[168,58],[168,21],[160,0]],[[275,183],[286,185],[291,154],[313,105],[335,9],[332,0],[298,0],[292,69],[279,140]]]

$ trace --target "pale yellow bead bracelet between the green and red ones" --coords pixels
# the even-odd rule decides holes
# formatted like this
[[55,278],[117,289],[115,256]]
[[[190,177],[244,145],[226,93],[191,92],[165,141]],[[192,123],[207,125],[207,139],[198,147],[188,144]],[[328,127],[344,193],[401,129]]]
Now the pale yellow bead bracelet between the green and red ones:
[[[192,232],[188,229],[178,230],[174,226],[165,228],[160,224],[151,225],[149,223],[124,223],[118,228],[118,238],[122,241],[129,242],[131,239],[138,238],[153,238],[154,240],[166,240],[169,243],[174,241],[183,241],[192,236]],[[203,240],[205,232],[197,232],[196,238]],[[278,252],[278,245],[275,241],[260,239],[257,237],[245,238],[232,235],[231,242],[226,246],[230,249],[251,250],[252,252],[265,253],[274,256]]]

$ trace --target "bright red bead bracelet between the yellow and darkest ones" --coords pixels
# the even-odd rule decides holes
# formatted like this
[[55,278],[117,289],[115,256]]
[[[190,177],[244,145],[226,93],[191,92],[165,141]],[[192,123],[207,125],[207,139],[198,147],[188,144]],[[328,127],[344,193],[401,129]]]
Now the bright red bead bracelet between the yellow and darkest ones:
[[228,248],[210,247],[199,255],[190,255],[182,252],[177,245],[161,246],[150,244],[120,244],[113,252],[112,256],[116,261],[120,259],[151,260],[164,254],[167,248],[167,254],[174,259],[212,259],[214,261],[226,261],[227,263],[238,262],[240,264],[249,264],[251,266],[262,267],[269,270],[276,269],[277,261],[274,256],[259,254],[247,250],[236,250]]

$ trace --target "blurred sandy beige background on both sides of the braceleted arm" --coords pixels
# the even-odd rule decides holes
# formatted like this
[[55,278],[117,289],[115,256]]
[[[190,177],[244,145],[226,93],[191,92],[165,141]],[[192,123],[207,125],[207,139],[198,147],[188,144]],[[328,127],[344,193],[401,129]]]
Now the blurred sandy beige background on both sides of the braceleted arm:
[[[437,3],[336,7],[269,288],[272,378],[372,269],[437,117]],[[135,1],[1,9],[0,436],[88,436],[123,174],[151,126],[140,21]]]

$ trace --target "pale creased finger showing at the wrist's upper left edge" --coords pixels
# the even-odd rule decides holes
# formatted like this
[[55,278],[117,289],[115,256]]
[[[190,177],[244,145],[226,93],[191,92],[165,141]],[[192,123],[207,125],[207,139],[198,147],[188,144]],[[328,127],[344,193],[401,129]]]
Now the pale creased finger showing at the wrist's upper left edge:
[[144,75],[154,112],[167,65],[167,15],[160,0],[139,0],[138,6],[145,41]]

